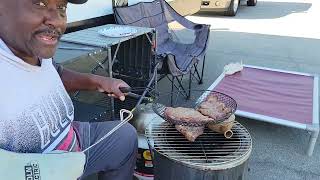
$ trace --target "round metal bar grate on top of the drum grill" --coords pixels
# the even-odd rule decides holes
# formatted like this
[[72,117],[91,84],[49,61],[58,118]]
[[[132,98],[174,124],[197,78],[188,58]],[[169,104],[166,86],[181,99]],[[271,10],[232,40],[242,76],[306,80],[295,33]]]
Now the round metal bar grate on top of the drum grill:
[[232,138],[226,139],[206,128],[195,142],[189,142],[170,123],[153,121],[146,129],[146,136],[160,154],[187,165],[210,168],[242,161],[251,153],[249,132],[238,122],[232,131]]

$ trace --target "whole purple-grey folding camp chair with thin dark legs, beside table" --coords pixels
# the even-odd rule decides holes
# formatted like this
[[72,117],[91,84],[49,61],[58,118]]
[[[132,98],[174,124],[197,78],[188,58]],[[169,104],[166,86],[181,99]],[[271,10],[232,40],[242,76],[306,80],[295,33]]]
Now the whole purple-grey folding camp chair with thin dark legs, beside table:
[[[140,2],[131,6],[114,8],[118,24],[150,27],[156,30],[156,55],[162,68],[159,74],[168,77],[174,87],[182,89],[190,97],[191,81],[203,81],[205,53],[209,39],[210,26],[196,24],[178,14],[166,1]],[[169,23],[178,22],[188,30],[193,30],[193,43],[184,43],[174,38]],[[202,62],[201,73],[198,64]],[[189,88],[182,84],[183,76],[189,75]],[[171,75],[171,78],[167,75]],[[178,83],[176,84],[175,81]]]

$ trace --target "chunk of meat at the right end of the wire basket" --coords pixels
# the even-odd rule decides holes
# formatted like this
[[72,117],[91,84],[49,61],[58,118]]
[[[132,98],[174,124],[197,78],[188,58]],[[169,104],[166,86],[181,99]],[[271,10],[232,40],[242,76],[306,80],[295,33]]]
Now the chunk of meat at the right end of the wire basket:
[[231,108],[226,107],[215,95],[209,95],[207,99],[200,104],[198,111],[212,119],[219,119],[231,113]]

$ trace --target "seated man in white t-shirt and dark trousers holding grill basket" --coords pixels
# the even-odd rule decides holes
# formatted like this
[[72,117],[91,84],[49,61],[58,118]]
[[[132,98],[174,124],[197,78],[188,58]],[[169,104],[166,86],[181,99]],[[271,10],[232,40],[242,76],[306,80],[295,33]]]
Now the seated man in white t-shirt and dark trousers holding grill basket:
[[[118,124],[73,122],[67,91],[104,91],[124,100],[119,87],[128,86],[125,82],[61,67],[57,71],[51,59],[66,30],[68,2],[85,1],[0,1],[0,148],[80,151]],[[102,179],[131,179],[136,149],[136,131],[126,124],[86,153],[83,177],[102,172]]]

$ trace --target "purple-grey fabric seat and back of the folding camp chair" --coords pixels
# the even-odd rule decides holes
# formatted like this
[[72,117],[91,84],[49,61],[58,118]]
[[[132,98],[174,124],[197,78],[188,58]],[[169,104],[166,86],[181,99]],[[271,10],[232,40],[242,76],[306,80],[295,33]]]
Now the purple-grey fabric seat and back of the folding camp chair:
[[[207,47],[209,26],[195,24],[178,14],[164,0],[140,2],[114,9],[118,24],[155,28],[157,32],[157,55],[167,58],[170,73],[174,76],[190,71],[192,65],[203,60]],[[196,36],[192,44],[175,42],[170,37],[168,24],[177,21]]]

